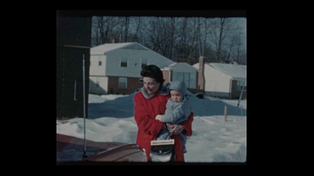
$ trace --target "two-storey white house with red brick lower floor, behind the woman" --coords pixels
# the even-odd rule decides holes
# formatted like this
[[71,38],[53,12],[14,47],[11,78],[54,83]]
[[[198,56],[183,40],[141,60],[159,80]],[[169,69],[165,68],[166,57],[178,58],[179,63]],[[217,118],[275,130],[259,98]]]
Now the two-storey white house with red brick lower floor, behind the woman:
[[175,63],[136,42],[102,44],[90,50],[89,93],[130,94],[143,87],[140,72],[147,65],[160,67],[165,83],[174,78],[185,79],[190,88],[197,85],[193,66]]

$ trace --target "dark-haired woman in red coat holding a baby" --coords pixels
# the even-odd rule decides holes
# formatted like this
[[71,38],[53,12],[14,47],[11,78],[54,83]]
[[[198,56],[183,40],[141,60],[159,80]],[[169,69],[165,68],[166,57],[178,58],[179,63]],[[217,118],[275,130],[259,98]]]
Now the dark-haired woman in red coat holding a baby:
[[[151,141],[155,140],[158,133],[165,129],[163,122],[156,120],[158,114],[162,115],[166,110],[166,103],[171,94],[164,87],[162,71],[155,65],[144,66],[141,71],[144,87],[134,95],[134,118],[138,126],[136,144],[145,149],[147,161],[150,159]],[[175,160],[184,162],[183,146],[179,137],[180,133],[186,136],[192,135],[193,113],[188,120],[182,123],[166,124],[169,132],[175,140]]]

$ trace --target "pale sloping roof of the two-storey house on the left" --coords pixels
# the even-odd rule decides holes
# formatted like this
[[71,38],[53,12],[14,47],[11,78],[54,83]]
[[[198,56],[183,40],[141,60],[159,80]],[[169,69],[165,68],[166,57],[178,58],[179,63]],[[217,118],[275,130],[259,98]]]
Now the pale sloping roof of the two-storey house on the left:
[[137,44],[135,42],[130,42],[130,43],[117,43],[117,44],[101,44],[95,47],[92,47],[90,49],[90,54],[91,55],[98,55],[98,54],[104,54],[108,51],[114,50],[114,49],[118,49],[121,47],[125,47],[131,44]]

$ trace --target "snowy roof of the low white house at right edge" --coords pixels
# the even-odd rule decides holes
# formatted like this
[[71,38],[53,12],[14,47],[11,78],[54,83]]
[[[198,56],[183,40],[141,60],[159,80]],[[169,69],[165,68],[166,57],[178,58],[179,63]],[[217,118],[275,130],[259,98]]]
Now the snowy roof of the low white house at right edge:
[[232,78],[246,78],[246,65],[205,63]]

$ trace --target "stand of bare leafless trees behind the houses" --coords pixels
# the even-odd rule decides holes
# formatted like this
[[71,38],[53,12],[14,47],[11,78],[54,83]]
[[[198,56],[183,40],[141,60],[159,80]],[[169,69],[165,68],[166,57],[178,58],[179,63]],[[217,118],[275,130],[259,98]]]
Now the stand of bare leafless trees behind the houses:
[[235,60],[246,63],[243,35],[229,18],[93,17],[92,45],[138,42],[175,61],[191,65]]

